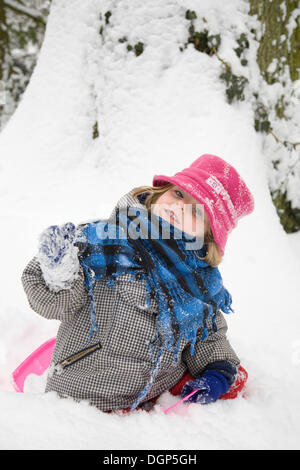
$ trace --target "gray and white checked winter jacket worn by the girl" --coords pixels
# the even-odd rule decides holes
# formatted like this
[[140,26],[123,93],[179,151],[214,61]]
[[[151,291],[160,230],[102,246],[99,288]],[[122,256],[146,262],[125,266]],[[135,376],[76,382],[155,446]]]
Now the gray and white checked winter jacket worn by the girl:
[[[118,201],[118,207],[141,205],[130,193]],[[130,407],[148,382],[153,365],[149,342],[155,335],[158,304],[151,298],[150,307],[145,308],[145,281],[130,280],[129,274],[118,276],[114,287],[105,286],[107,277],[96,281],[93,292],[99,330],[87,343],[91,301],[82,267],[72,287],[59,292],[48,289],[36,257],[21,279],[31,308],[47,319],[61,321],[45,391],[88,400],[102,411]],[[227,324],[221,310],[216,323],[218,330],[214,333],[211,320],[208,322],[209,336],[204,341],[200,341],[199,328],[193,356],[184,339],[177,363],[173,362],[173,353],[163,353],[160,370],[144,402],[172,388],[187,371],[197,377],[215,361],[239,365],[226,338]]]

